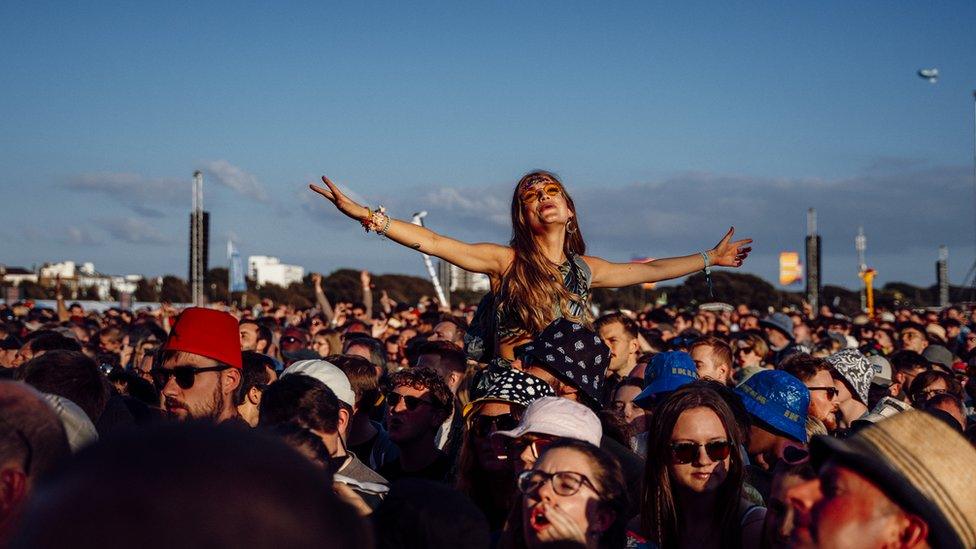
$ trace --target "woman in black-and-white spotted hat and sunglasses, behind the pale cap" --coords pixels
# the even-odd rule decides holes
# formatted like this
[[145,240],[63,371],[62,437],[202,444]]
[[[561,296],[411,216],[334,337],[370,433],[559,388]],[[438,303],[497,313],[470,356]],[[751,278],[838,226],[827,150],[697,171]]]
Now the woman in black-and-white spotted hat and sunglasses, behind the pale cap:
[[457,489],[469,496],[488,518],[492,538],[497,539],[515,500],[515,472],[507,455],[499,455],[491,443],[497,431],[514,429],[525,408],[542,396],[552,395],[544,381],[520,370],[508,369],[484,397],[464,408],[466,430],[457,461]]

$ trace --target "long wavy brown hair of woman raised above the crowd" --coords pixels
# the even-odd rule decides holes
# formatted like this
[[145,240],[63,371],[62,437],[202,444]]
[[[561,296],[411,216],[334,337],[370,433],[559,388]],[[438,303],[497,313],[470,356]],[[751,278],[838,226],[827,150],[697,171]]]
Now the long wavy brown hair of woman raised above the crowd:
[[[537,170],[525,174],[515,186],[515,193],[512,195],[512,239],[509,241],[509,246],[515,251],[515,259],[502,276],[500,305],[506,315],[512,319],[513,325],[530,334],[538,334],[555,320],[553,305],[558,305],[563,316],[575,322],[589,324],[592,320],[586,304],[582,303],[582,296],[570,292],[565,287],[559,267],[542,253],[525,219],[520,191],[526,185],[550,181],[562,189],[563,196],[566,197],[566,205],[569,211],[573,212],[571,221],[575,225],[575,230],[567,231],[563,251],[566,257],[586,253],[586,243],[583,241],[583,233],[576,216],[576,205],[566,192],[566,188],[552,173]],[[570,268],[574,267],[570,265]],[[583,318],[571,313],[569,310],[571,302],[582,305]]]

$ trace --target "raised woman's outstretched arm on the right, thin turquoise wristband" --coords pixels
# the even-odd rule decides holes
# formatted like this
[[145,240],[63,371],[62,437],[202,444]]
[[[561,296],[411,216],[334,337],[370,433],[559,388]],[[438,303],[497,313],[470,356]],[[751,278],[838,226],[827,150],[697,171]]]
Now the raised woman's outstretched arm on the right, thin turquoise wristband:
[[[708,264],[717,267],[739,267],[749,257],[752,239],[732,242],[735,228],[730,228],[722,241],[711,250],[705,250]],[[705,268],[705,258],[700,253],[683,257],[657,259],[649,263],[611,263],[598,257],[587,257],[593,271],[594,288],[622,288],[644,282],[658,282],[678,278]]]

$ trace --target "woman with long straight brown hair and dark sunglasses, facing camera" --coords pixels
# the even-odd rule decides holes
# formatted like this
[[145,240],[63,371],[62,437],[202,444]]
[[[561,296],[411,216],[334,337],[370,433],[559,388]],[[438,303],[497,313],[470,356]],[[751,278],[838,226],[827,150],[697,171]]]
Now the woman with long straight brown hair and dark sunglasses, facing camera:
[[743,497],[742,434],[713,389],[682,387],[655,410],[641,530],[651,547],[758,547],[765,509]]

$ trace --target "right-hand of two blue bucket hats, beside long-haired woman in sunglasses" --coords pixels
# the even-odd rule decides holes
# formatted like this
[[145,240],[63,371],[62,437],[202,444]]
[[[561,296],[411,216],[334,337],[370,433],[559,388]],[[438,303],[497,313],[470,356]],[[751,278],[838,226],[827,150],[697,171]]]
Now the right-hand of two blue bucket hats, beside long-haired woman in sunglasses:
[[763,370],[735,388],[750,415],[797,442],[807,441],[810,390],[782,370]]

